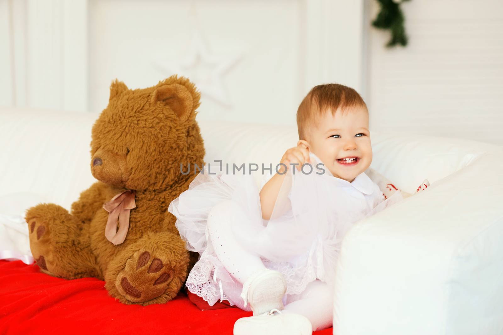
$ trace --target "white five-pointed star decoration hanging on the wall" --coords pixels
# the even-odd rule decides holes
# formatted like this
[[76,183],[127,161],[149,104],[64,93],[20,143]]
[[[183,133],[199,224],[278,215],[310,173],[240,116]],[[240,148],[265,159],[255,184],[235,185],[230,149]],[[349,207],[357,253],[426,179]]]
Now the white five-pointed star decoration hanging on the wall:
[[[197,25],[196,25],[197,26]],[[201,94],[226,105],[231,105],[223,77],[238,62],[241,55],[213,55],[206,46],[199,29],[194,29],[188,55],[179,62],[156,61],[154,66],[167,75],[179,74],[194,82]]]

